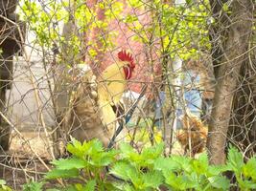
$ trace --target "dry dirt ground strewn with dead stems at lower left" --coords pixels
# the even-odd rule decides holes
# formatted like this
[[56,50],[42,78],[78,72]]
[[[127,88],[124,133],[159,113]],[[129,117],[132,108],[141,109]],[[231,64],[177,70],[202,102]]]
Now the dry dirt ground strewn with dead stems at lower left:
[[11,149],[0,154],[0,179],[13,190],[22,190],[29,180],[39,180],[51,167],[47,139],[43,133],[12,135]]

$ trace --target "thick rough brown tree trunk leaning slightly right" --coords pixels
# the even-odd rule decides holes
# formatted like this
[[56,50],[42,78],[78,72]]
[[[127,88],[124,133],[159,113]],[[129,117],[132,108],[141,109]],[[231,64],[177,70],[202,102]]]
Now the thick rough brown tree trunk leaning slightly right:
[[[212,3],[214,11],[215,7],[213,5],[216,6],[216,4]],[[220,6],[222,7],[222,5]],[[232,101],[238,87],[242,64],[248,55],[249,36],[252,31],[252,2],[250,0],[234,0],[230,7],[230,15],[225,14],[225,18],[228,18],[230,24],[225,28],[225,36],[221,36],[221,42],[219,42],[221,43],[221,56],[220,52],[219,55],[217,55],[218,53],[213,54],[213,60],[220,60],[221,62],[218,70],[215,70],[217,85],[207,141],[212,164],[223,164],[225,162],[224,149],[232,111]],[[223,9],[221,10],[223,11]],[[227,21],[219,19],[216,22],[219,22],[219,26],[226,26]],[[216,39],[218,38],[213,39],[213,46],[216,45]],[[218,48],[220,49],[220,47]]]

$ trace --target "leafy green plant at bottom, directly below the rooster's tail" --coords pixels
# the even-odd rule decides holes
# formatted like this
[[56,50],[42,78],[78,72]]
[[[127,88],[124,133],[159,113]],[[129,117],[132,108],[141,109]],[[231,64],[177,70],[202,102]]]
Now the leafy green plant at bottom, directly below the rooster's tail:
[[117,151],[105,151],[103,144],[96,139],[81,143],[73,139],[67,145],[67,151],[72,155],[69,159],[58,159],[52,163],[55,168],[48,172],[45,180],[75,180],[66,188],[73,190],[110,189],[111,183],[106,181],[105,166],[114,162]]

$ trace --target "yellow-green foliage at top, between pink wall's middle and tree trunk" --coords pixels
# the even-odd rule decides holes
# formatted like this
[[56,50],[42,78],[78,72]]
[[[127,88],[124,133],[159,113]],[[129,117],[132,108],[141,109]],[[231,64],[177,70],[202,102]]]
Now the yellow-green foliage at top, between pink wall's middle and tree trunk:
[[159,0],[151,1],[151,4],[143,4],[140,0],[128,2],[132,10],[151,11],[152,21],[148,28],[139,21],[136,11],[128,14],[125,22],[136,33],[133,37],[135,40],[151,44],[154,39],[160,39],[158,54],[170,55],[172,58],[178,55],[186,60],[198,56],[202,50],[209,51],[208,1],[187,1],[187,4],[178,6]]

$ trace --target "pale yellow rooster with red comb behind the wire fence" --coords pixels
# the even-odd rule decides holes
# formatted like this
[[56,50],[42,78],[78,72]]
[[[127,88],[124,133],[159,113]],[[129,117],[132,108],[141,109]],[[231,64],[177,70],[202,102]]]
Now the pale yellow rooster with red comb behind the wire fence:
[[118,59],[99,77],[91,70],[82,75],[81,83],[71,96],[71,110],[64,122],[71,137],[81,142],[99,138],[106,146],[113,136],[117,117],[120,116],[119,102],[135,68],[130,53],[121,51]]

